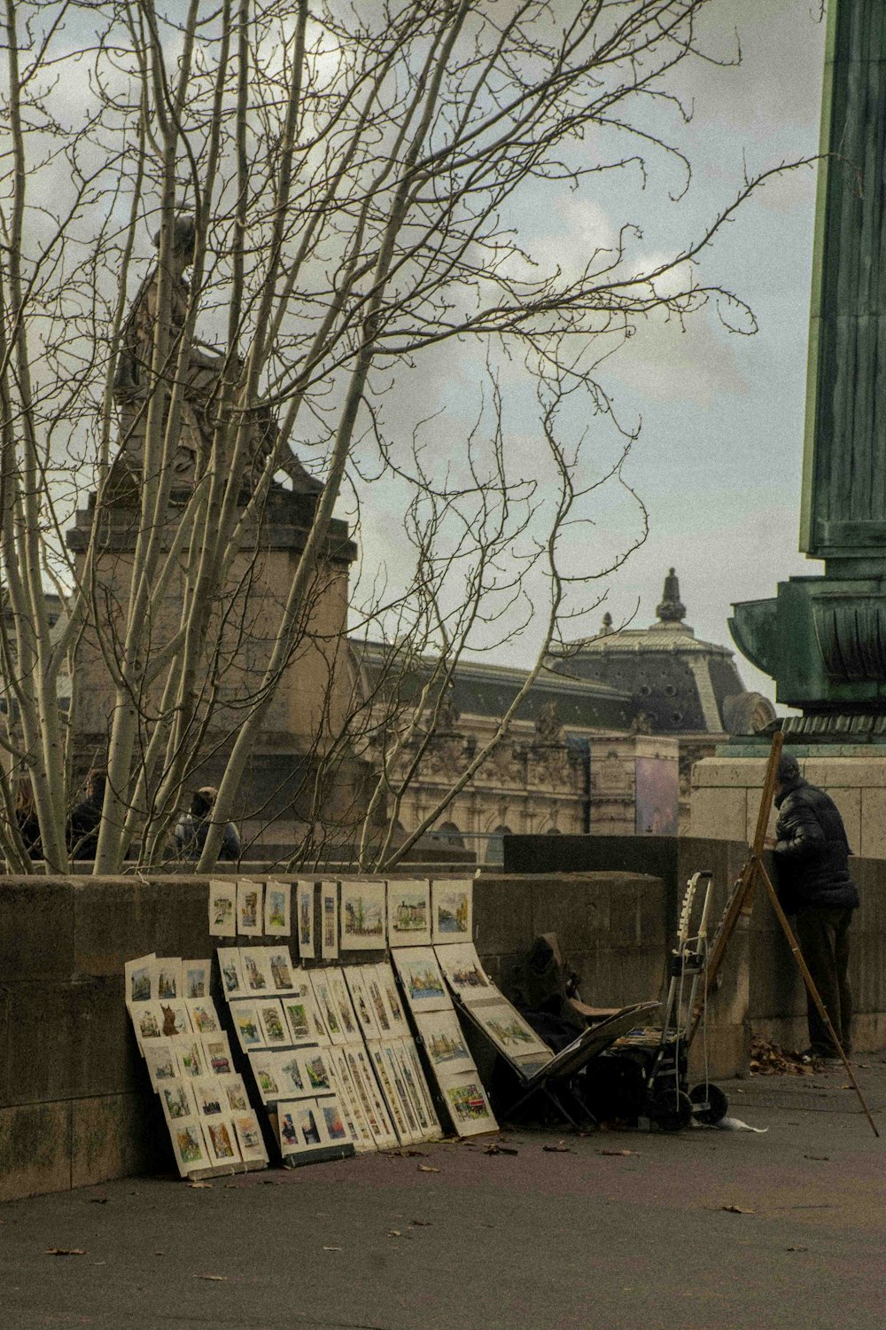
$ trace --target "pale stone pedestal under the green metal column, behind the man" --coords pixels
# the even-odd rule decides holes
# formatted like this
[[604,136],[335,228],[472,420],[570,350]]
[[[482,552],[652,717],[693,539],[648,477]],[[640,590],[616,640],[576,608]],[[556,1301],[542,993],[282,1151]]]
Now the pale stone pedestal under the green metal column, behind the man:
[[[792,743],[800,773],[840,809],[853,853],[886,859],[886,745]],[[768,751],[725,743],[692,767],[691,834],[751,842],[757,826]],[[769,830],[774,831],[776,810]]]

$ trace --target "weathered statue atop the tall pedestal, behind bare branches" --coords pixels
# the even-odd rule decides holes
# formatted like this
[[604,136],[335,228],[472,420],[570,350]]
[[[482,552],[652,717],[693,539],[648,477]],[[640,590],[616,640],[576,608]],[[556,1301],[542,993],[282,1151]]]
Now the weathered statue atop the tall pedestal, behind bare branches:
[[[197,230],[193,217],[175,218],[170,254],[170,360],[174,366],[179,354],[177,344],[187,319],[190,286],[185,273],[194,261]],[[159,231],[154,235],[159,246]],[[143,462],[146,403],[150,395],[151,355],[157,325],[159,293],[159,263],[142,282],[133,301],[121,338],[121,350],[114,374],[114,400],[121,412],[122,448],[114,462],[114,471],[126,472],[134,480],[141,476]],[[194,338],[183,360],[182,424],[175,458],[174,480],[178,488],[190,487],[203,475],[213,447],[213,436],[221,406],[223,374],[239,376],[243,364],[239,358],[223,355],[215,347]],[[244,475],[244,489],[251,491],[267,459],[278,447],[278,427],[271,410],[256,403],[251,411],[251,446]],[[321,488],[304,469],[291,450],[278,462],[278,469],[291,480],[296,492],[315,492]]]

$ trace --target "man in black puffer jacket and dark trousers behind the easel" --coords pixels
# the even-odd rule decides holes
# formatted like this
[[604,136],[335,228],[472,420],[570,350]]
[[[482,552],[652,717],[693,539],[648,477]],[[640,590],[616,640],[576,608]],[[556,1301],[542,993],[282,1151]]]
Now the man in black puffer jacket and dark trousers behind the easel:
[[[849,841],[834,801],[800,775],[784,754],[776,789],[778,895],[796,914],[794,934],[843,1052],[851,1049],[849,926],[858,891],[849,875]],[[812,998],[806,998],[809,1057],[834,1059],[837,1049]]]

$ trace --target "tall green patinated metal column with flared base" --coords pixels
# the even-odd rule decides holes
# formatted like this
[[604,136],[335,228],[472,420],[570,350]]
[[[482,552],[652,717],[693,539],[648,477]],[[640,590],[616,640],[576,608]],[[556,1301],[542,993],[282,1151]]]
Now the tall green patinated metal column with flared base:
[[829,0],[800,548],[825,573],[733,606],[808,739],[886,739],[886,4]]

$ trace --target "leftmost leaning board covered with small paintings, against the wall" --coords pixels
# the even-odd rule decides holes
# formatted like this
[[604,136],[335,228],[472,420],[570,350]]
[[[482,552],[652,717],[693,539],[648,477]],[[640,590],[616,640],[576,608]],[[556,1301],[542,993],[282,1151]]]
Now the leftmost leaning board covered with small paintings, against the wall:
[[210,996],[210,962],[138,956],[126,1005],[182,1177],[264,1168],[262,1128]]

